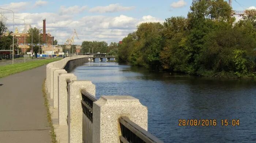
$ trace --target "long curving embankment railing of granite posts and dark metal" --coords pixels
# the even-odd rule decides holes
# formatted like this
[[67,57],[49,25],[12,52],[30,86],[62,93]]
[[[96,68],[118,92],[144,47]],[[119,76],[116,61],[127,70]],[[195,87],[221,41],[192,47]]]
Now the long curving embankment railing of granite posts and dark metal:
[[[66,57],[46,65],[46,92],[57,116],[57,140],[68,143],[163,143],[147,131],[147,107],[132,96],[95,97],[91,81],[65,69],[94,55]],[[104,56],[106,58],[106,56]],[[109,56],[113,57],[113,56]],[[71,63],[73,62],[73,63]],[[63,133],[68,134],[63,134]],[[67,138],[65,140],[64,138]]]

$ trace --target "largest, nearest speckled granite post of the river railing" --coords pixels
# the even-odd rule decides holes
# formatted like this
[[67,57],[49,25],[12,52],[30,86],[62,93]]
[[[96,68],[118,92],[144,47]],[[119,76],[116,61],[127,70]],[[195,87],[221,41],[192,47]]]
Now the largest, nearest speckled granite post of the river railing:
[[118,119],[128,117],[147,130],[147,107],[132,96],[101,96],[93,103],[93,143],[120,143]]

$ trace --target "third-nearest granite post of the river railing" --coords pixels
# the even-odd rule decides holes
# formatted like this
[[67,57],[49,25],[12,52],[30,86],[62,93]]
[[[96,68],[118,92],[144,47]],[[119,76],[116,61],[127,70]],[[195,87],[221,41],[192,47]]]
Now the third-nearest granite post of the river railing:
[[59,124],[67,125],[67,115],[68,115],[68,91],[67,91],[67,79],[76,80],[74,74],[59,74]]

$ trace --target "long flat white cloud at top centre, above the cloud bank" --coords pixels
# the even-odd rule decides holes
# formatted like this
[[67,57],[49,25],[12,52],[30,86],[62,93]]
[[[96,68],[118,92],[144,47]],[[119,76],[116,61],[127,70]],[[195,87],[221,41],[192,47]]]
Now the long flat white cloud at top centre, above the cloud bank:
[[110,4],[108,6],[98,6],[91,8],[90,12],[97,12],[97,13],[107,13],[107,12],[118,12],[118,11],[129,11],[134,9],[135,7],[124,7],[119,4]]

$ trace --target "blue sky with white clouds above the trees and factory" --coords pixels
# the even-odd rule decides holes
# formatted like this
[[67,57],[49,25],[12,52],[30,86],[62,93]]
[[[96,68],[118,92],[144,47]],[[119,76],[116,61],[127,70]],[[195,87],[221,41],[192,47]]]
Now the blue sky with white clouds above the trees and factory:
[[[228,0],[226,0],[228,1]],[[121,41],[129,33],[136,31],[143,22],[160,22],[172,16],[187,17],[192,0],[1,0],[0,8],[11,9],[14,17],[25,19],[32,27],[42,29],[46,19],[46,32],[63,44],[76,29],[82,41]],[[256,0],[233,0],[234,10],[254,8]],[[10,31],[12,13],[0,9]],[[239,17],[238,17],[239,18]],[[24,29],[22,20],[15,19],[15,28]]]

